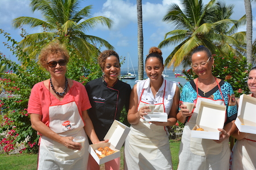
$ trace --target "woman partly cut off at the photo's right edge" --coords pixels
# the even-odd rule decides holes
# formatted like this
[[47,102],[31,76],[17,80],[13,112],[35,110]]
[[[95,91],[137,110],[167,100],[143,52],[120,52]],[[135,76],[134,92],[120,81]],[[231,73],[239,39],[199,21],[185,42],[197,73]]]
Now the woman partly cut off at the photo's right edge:
[[[251,92],[249,96],[256,97],[256,67],[249,71],[247,86]],[[237,100],[239,104],[240,99]],[[240,106],[241,107],[241,106]],[[252,111],[254,112],[254,111]],[[230,159],[230,169],[256,169],[256,134],[242,133],[237,128],[232,134],[237,139]]]

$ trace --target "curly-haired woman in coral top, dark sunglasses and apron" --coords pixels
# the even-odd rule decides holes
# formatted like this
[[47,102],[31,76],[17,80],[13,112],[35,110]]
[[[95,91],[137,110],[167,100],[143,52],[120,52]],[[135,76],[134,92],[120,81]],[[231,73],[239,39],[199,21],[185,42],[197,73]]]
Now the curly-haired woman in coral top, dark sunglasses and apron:
[[[69,54],[63,45],[48,45],[39,60],[51,78],[35,84],[28,101],[31,126],[40,134],[38,169],[84,169],[87,135],[100,142],[86,111],[91,105],[85,87],[65,77]],[[84,147],[72,141],[77,136],[85,137]]]

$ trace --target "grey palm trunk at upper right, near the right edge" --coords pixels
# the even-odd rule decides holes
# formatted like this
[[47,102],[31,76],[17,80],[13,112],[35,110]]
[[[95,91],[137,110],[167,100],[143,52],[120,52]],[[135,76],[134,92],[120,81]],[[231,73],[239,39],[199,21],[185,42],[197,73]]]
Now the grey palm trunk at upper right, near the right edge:
[[253,21],[251,14],[251,1],[245,0],[245,14],[246,14],[246,57],[247,63],[251,64],[253,54]]

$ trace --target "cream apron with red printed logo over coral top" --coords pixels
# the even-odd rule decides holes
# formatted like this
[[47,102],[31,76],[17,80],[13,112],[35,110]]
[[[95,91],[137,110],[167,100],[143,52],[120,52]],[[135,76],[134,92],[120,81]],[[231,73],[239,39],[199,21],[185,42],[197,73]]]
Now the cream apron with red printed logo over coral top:
[[63,105],[49,106],[49,128],[63,137],[82,135],[86,138],[81,150],[72,150],[45,136],[41,137],[38,169],[84,169],[89,152],[84,122],[75,101]]

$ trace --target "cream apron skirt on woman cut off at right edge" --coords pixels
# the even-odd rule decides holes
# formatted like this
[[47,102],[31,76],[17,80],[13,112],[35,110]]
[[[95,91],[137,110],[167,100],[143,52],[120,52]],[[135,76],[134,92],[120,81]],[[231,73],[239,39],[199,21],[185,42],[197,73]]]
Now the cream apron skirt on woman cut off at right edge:
[[245,138],[237,140],[230,158],[230,169],[256,169],[256,135],[247,134]]

